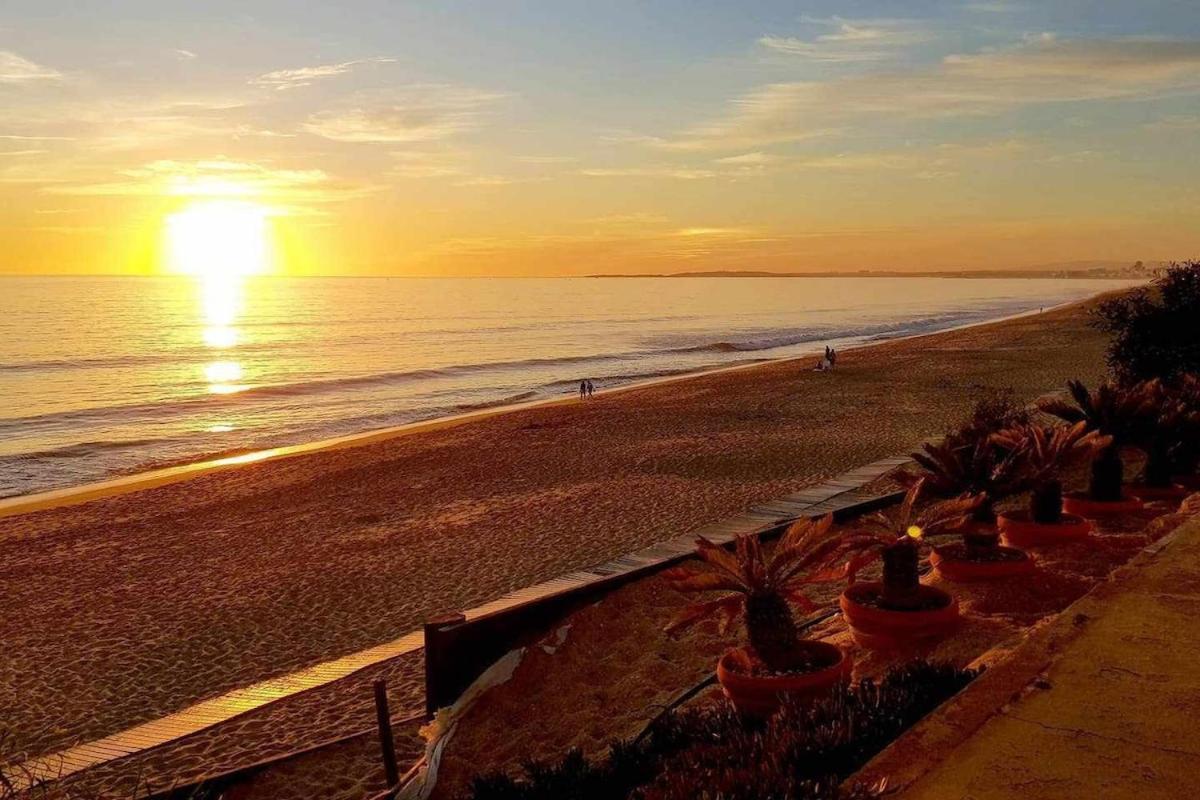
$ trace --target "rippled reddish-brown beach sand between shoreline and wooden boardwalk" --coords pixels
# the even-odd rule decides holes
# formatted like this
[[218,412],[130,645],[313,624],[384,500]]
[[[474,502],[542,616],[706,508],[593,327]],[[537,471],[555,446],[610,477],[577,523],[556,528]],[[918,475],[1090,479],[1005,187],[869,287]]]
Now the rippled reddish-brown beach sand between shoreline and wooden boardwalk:
[[1073,306],[0,519],[0,708],[30,753],[398,637],[1094,380]]

